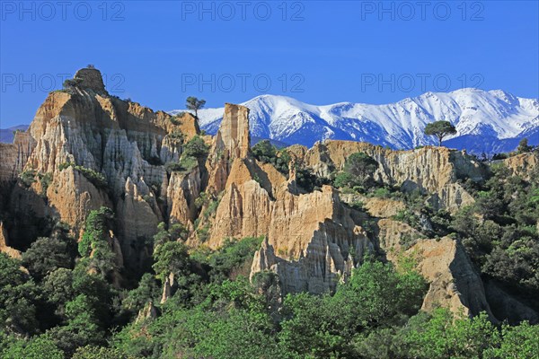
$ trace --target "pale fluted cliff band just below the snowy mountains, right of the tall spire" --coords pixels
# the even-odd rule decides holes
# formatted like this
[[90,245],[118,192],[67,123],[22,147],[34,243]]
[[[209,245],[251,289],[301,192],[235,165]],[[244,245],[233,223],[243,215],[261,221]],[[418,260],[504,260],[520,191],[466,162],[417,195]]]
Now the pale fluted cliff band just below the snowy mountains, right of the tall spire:
[[349,154],[357,152],[367,153],[379,163],[375,180],[399,186],[404,191],[418,189],[430,193],[430,204],[436,209],[455,211],[473,203],[473,197],[457,180],[479,181],[487,173],[481,162],[446,147],[425,146],[413,151],[393,151],[367,143],[324,141],[307,151],[300,146],[293,149],[299,161],[325,177],[335,169],[342,169]]

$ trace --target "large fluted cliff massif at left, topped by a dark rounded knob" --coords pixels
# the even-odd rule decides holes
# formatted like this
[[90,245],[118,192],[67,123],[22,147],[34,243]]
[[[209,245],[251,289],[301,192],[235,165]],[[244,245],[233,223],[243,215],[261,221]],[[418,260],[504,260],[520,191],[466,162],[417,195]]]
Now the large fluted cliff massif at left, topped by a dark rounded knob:
[[[27,133],[17,134],[13,144],[2,144],[6,161],[0,176],[5,181],[22,171],[47,174],[48,188],[18,185],[10,207],[57,217],[77,235],[91,210],[109,206],[116,214],[126,262],[137,267],[144,257],[143,243],[155,234],[157,223],[169,215],[185,224],[194,220],[199,174],[169,179],[163,164],[178,161],[184,142],[199,127],[190,114],[172,120],[163,111],[110,97],[96,69],[81,70],[76,77],[76,87],[49,94]],[[103,176],[105,183],[87,178],[89,171],[91,177]],[[35,197],[44,198],[46,205]],[[187,210],[178,208],[179,198],[189,202]]]

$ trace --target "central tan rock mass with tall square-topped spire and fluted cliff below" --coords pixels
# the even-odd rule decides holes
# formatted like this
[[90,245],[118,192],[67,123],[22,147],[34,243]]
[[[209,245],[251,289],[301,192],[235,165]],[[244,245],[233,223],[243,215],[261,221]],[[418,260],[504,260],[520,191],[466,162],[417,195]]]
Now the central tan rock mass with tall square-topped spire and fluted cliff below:
[[285,293],[333,290],[358,265],[354,258],[372,249],[367,233],[333,188],[300,194],[294,173],[287,180],[257,162],[249,143],[248,109],[227,104],[208,159],[208,188],[222,192],[206,244],[218,248],[226,238],[265,236],[252,275],[278,273]]

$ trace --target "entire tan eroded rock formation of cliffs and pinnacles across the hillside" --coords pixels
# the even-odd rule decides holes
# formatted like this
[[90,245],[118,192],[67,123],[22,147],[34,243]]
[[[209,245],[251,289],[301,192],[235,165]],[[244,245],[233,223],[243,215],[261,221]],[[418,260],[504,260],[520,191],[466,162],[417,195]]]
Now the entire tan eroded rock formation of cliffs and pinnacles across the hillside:
[[[17,133],[13,144],[0,144],[0,209],[16,219],[0,223],[0,250],[10,256],[35,239],[39,220],[68,223],[80,238],[90,211],[107,206],[115,213],[111,238],[124,270],[136,271],[151,256],[147,241],[158,223],[181,223],[189,229],[191,248],[215,250],[226,239],[263,236],[251,275],[275,272],[283,293],[334,290],[365,254],[382,251],[397,266],[402,256],[416,257],[430,283],[424,309],[442,305],[491,315],[482,278],[460,243],[421,238],[403,248],[403,235],[421,235],[392,219],[404,209],[402,202],[362,198],[360,210],[350,206],[357,198],[329,185],[312,192],[299,187],[294,165],[286,175],[257,161],[249,109],[226,104],[216,136],[203,136],[190,113],[172,117],[110,96],[96,69],[75,77],[80,81],[70,91],[49,94],[27,132]],[[195,136],[208,144],[207,158],[184,171],[167,171],[166,164],[178,162]],[[294,164],[321,177],[341,169],[350,153],[367,153],[378,162],[375,180],[429,194],[430,206],[449,212],[473,204],[463,180],[486,176],[482,163],[466,153],[432,146],[393,151],[325,141],[310,149],[293,145],[288,152]],[[521,156],[508,166],[526,171],[534,161]],[[202,195],[213,199],[200,206]]]

